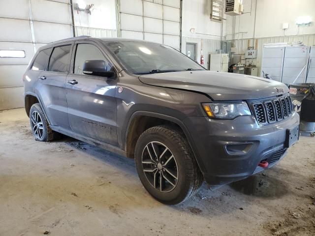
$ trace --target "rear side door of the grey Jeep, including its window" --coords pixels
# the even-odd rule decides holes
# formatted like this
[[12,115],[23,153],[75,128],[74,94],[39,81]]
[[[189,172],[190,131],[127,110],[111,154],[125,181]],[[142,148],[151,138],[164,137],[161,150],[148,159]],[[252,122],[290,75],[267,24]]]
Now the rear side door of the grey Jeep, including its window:
[[69,73],[71,50],[71,44],[54,47],[48,68],[40,73],[36,84],[36,94],[43,103],[50,123],[67,130],[70,126],[64,86]]

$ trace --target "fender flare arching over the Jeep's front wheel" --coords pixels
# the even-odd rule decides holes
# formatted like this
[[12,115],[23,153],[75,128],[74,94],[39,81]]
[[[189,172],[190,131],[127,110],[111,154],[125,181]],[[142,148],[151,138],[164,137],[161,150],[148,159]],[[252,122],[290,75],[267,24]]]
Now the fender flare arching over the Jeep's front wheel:
[[132,120],[134,118],[136,118],[137,116],[147,116],[147,117],[154,117],[154,118],[161,118],[161,119],[165,119],[165,120],[168,120],[168,121],[171,121],[171,122],[174,122],[176,123],[184,132],[186,138],[187,138],[187,141],[188,141],[188,144],[196,158],[196,161],[197,161],[197,164],[199,166],[199,169],[202,173],[205,172],[205,168],[204,168],[204,163],[202,162],[201,158],[199,158],[199,152],[194,144],[194,141],[189,133],[189,130],[188,128],[186,127],[186,125],[183,123],[182,120],[178,119],[178,118],[175,118],[175,117],[172,117],[172,116],[168,116],[168,115],[165,115],[165,114],[160,114],[160,113],[155,113],[155,112],[148,112],[148,111],[136,111],[134,112],[131,117],[129,118],[129,121],[128,121],[128,124],[127,124],[127,127],[126,127],[126,132],[125,132],[125,137],[124,137],[124,149],[126,151],[126,147],[127,147],[127,135],[128,135],[128,130],[129,130],[129,127],[130,127],[130,124],[132,122]]

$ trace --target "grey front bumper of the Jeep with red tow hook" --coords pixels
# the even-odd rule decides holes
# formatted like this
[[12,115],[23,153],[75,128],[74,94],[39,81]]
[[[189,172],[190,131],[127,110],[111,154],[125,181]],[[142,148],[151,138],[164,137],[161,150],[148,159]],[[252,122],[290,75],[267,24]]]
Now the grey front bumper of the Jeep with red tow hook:
[[[258,125],[253,116],[233,120],[189,117],[184,120],[193,140],[195,154],[205,180],[213,186],[249,177],[275,165],[286,154],[286,130],[299,124],[299,115],[268,125]],[[243,146],[242,146],[243,145]],[[246,147],[231,152],[226,147]],[[232,148],[233,149],[233,148]]]

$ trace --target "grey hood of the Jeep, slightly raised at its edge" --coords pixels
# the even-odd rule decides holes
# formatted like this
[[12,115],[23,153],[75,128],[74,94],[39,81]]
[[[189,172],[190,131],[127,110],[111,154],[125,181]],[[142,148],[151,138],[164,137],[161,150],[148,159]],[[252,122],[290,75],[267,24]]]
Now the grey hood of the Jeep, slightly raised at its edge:
[[280,82],[256,76],[209,70],[179,71],[141,75],[147,85],[184,89],[208,94],[213,100],[246,100],[287,93]]

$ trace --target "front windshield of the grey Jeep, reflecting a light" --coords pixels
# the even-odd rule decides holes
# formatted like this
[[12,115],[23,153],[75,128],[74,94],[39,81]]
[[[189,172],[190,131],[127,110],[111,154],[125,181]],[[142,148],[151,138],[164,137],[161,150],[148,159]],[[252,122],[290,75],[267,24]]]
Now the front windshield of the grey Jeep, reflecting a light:
[[177,50],[147,42],[107,42],[108,49],[133,74],[204,70]]

